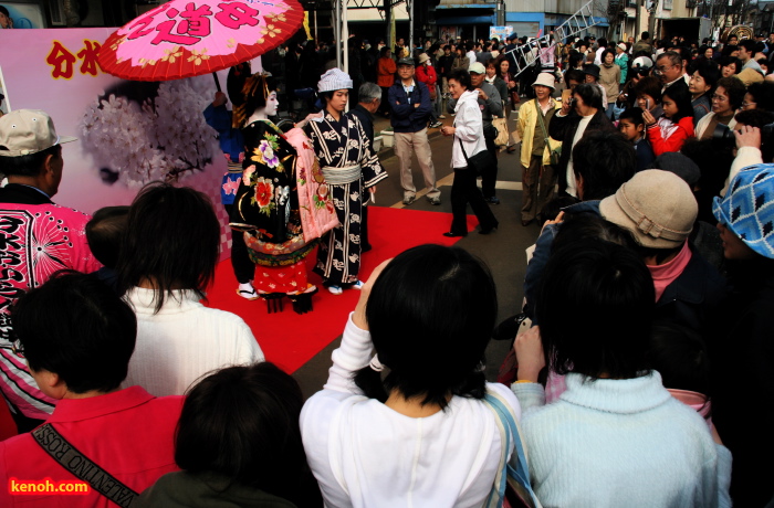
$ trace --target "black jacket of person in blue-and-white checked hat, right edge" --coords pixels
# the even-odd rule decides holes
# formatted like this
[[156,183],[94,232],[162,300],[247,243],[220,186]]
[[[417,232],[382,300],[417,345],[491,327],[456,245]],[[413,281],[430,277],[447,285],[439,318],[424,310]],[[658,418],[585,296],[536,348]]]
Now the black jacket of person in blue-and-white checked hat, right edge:
[[714,319],[712,422],[733,455],[734,506],[761,507],[774,497],[774,275],[746,272],[745,281],[732,276],[743,285]]

